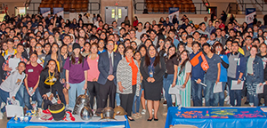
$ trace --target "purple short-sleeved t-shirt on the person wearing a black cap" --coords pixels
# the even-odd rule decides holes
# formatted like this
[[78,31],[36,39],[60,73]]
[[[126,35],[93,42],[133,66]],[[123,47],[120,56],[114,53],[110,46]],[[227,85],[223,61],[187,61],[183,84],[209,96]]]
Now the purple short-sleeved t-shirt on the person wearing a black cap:
[[[71,60],[68,59],[65,62],[64,69],[69,70],[69,83],[70,84],[79,84],[85,80],[85,70],[89,69],[88,63],[86,60],[83,62],[77,63],[78,58],[75,58],[76,64],[72,64]],[[69,61],[71,66],[69,65]],[[83,66],[84,65],[84,66]]]

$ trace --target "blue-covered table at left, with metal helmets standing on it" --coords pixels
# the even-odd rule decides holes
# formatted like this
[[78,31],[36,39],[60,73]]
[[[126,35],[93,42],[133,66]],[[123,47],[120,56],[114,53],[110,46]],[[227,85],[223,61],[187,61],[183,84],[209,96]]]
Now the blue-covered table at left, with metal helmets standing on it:
[[24,128],[26,126],[45,126],[48,128],[103,128],[125,127],[130,128],[128,120],[125,121],[99,121],[99,122],[20,122],[13,118],[6,124],[7,128]]

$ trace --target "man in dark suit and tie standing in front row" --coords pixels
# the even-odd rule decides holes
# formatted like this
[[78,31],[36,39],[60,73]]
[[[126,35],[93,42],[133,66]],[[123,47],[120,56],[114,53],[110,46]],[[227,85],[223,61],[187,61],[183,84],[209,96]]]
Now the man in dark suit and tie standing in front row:
[[100,84],[100,107],[107,107],[107,100],[109,95],[109,107],[115,108],[115,96],[117,90],[117,63],[121,60],[121,55],[117,52],[113,52],[114,41],[109,40],[106,47],[108,52],[100,54],[98,69],[100,75],[98,77],[98,83]]

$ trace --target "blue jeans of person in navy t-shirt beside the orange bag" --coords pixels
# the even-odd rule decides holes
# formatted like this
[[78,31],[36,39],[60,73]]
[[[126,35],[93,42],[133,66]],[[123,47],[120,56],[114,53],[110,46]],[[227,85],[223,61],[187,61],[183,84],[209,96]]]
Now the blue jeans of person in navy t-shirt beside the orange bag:
[[206,80],[206,89],[204,92],[205,105],[206,107],[218,106],[219,102],[219,93],[214,93],[214,84],[215,80]]

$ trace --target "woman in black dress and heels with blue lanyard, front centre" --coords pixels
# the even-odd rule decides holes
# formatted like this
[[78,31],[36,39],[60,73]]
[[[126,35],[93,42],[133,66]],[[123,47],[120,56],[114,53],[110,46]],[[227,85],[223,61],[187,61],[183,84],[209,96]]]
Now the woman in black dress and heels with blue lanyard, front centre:
[[156,46],[150,44],[148,51],[140,64],[142,74],[142,84],[144,89],[144,98],[147,100],[150,117],[148,121],[153,119],[152,105],[154,105],[154,120],[158,121],[159,100],[161,98],[161,90],[163,87],[163,75],[165,74],[165,60],[160,57]]

